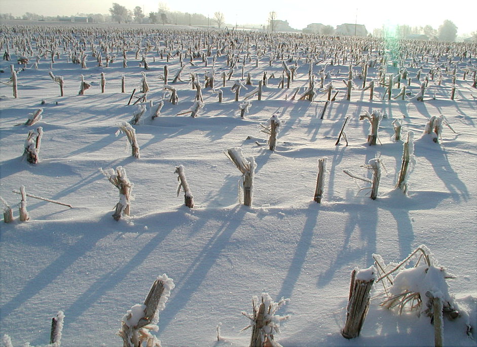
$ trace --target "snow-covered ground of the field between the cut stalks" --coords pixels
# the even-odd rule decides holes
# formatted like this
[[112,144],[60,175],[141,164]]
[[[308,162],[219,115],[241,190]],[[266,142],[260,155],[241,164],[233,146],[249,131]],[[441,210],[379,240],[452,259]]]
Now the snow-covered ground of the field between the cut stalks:
[[[15,48],[22,46],[17,40],[21,30],[11,28],[2,27],[0,34],[2,54],[8,44],[11,55],[10,61],[0,61],[0,196],[12,206],[15,221],[0,222],[0,333],[8,334],[14,346],[48,344],[51,318],[59,310],[65,315],[61,345],[121,345],[117,332],[122,317],[143,302],[154,280],[164,273],[175,288],[160,313],[157,336],[163,346],[248,345],[251,330],[240,330],[250,322],[241,312],[250,313],[252,296],[260,297],[262,292],[274,300],[290,299],[278,311],[290,318],[275,335],[285,347],[434,345],[429,317],[418,317],[414,311],[399,316],[380,307],[381,283],[372,290],[377,297],[371,301],[361,335],[347,340],[340,333],[352,269],[372,265],[373,254],[382,255],[386,263],[398,262],[422,244],[455,275],[448,280],[449,291],[475,329],[477,90],[472,87],[471,72],[463,79],[465,69],[477,66],[475,44],[467,48],[464,58],[461,46],[449,46],[436,61],[431,57],[434,46],[419,50],[411,45],[407,49],[415,55],[398,57],[402,51],[385,51],[394,46],[371,39],[369,44],[356,41],[361,45],[358,51],[352,39],[331,37],[250,33],[247,38],[246,32],[193,29],[122,32],[118,26],[109,32],[89,27],[45,31],[54,27],[43,27],[39,35],[38,27],[29,27],[29,37],[36,34],[36,39],[31,42],[33,54],[28,55]],[[54,63],[47,52],[51,50],[48,40],[57,44]],[[140,62],[148,44],[152,49],[145,60],[150,69],[145,70]],[[207,66],[201,57],[191,64],[188,50],[206,53],[209,44]],[[108,67],[107,45],[109,54],[116,56]],[[86,68],[71,62],[72,53],[83,47]],[[127,68],[123,68],[123,47]],[[217,47],[225,47],[220,56]],[[92,48],[102,52],[104,66],[92,57]],[[165,53],[163,59],[160,51]],[[169,61],[166,52],[171,52]],[[385,88],[378,83],[378,73],[384,52],[386,73],[396,76],[401,63],[409,71],[412,81],[406,100],[383,98]],[[44,55],[35,69],[35,56],[40,53]],[[182,54],[186,68],[182,81],[172,84],[180,67],[175,53]],[[222,73],[230,70],[227,54],[232,57],[233,53],[240,60],[223,87]],[[242,80],[247,53],[251,59],[245,59]],[[255,66],[258,53],[261,59]],[[25,54],[29,62],[22,69],[16,60]],[[307,57],[313,62],[316,94],[314,101],[299,101],[309,85]],[[289,89],[278,87],[282,59],[290,67],[298,66]],[[393,59],[399,61],[397,66],[392,65]],[[368,81],[376,80],[374,101],[369,101],[369,90],[361,88],[362,62],[370,61],[377,62],[368,69]],[[12,64],[18,71],[18,98],[13,97],[9,83]],[[350,64],[356,88],[348,101],[342,81],[348,79]],[[168,83],[177,89],[176,105],[169,102],[163,88],[165,65]],[[213,65],[214,86],[223,91],[222,103],[210,88],[203,88],[204,74]],[[456,94],[451,100],[454,66]],[[437,74],[431,79],[430,68],[442,72],[441,85]],[[320,119],[327,98],[325,89],[319,88],[323,69],[329,73],[324,87],[333,82],[339,93]],[[63,97],[49,71],[63,76]],[[130,121],[137,110],[137,104],[132,105],[135,97],[127,104],[134,88],[140,95],[141,71],[146,73],[150,91],[148,101],[142,103],[147,110],[134,125],[140,147],[137,159],[131,156],[126,135],[117,131],[118,124]],[[274,76],[263,88],[261,101],[256,96],[248,100],[249,113],[241,119],[239,104],[262,80],[264,71],[268,78]],[[104,93],[101,72],[106,79]],[[230,88],[236,80],[245,83],[248,72],[253,86],[242,89],[240,101],[235,102]],[[199,78],[204,101],[196,118],[190,113],[177,115],[194,104],[191,73]],[[92,87],[78,95],[82,74]],[[122,75],[125,93],[121,93]],[[426,76],[429,83],[420,102],[415,96]],[[394,86],[392,96],[399,91]],[[157,105],[163,99],[160,116],[152,120],[149,101]],[[42,120],[25,126],[29,113],[39,108]],[[359,115],[373,110],[385,118],[379,126],[379,143],[370,146],[366,142],[369,123],[359,120]],[[281,121],[275,151],[269,150],[268,135],[261,132],[261,124],[266,125],[273,114]],[[435,143],[422,133],[428,119],[441,114],[450,127],[444,125],[442,138]],[[346,117],[350,117],[345,128],[349,145],[343,138],[335,145]],[[393,140],[396,119],[402,120],[404,139],[408,131],[414,132],[416,163],[407,195],[395,189],[403,148],[402,141]],[[22,157],[24,142],[28,131],[39,126],[44,132],[40,161],[29,164]],[[224,154],[229,147],[241,148],[245,157],[256,162],[251,207],[239,202],[241,172]],[[323,198],[317,204],[313,193],[322,157],[327,158],[326,176]],[[369,189],[360,190],[368,183],[343,172],[371,178],[362,166],[373,158],[379,158],[385,168],[376,200],[370,199]],[[177,197],[174,170],[178,165],[185,167],[193,209],[184,206],[182,193]],[[115,221],[112,209],[118,202],[118,189],[99,169],[119,166],[134,184],[134,200],[130,216]],[[20,196],[12,190],[21,185],[28,194],[73,207],[27,198],[30,220],[20,222]],[[464,317],[445,320],[444,345],[476,345],[466,335]]]

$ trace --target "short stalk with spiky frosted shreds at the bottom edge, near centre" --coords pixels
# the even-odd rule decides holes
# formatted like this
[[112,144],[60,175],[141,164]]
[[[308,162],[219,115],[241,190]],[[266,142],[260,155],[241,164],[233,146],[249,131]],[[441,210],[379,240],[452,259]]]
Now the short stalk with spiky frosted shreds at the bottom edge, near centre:
[[250,320],[250,325],[241,331],[252,328],[250,347],[281,347],[281,344],[274,341],[274,334],[280,333],[280,322],[290,316],[279,316],[276,312],[289,300],[281,298],[280,301],[274,302],[268,293],[262,293],[262,302],[259,303],[259,298],[253,296],[253,312],[242,312],[242,315]]

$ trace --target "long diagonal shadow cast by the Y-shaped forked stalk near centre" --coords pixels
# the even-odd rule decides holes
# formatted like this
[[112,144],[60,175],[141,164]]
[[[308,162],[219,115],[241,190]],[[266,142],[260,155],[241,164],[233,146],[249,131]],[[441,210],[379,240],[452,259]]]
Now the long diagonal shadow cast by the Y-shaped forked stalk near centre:
[[221,255],[221,251],[227,247],[230,238],[237,230],[247,211],[247,207],[237,205],[228,212],[229,216],[224,218],[224,223],[210,238],[196,259],[192,261],[191,266],[184,274],[184,278],[175,282],[174,296],[169,299],[166,309],[161,313],[161,330],[159,334],[174,320],[177,313],[184,309],[192,295],[201,286],[210,268]]

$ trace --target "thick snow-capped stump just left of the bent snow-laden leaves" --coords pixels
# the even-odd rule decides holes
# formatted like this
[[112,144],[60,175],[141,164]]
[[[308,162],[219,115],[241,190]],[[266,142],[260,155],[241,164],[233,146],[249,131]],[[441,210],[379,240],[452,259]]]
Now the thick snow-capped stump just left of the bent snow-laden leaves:
[[375,280],[376,269],[374,266],[359,271],[355,268],[351,273],[346,323],[341,331],[343,337],[350,339],[359,336],[366,313],[368,313],[370,291]]

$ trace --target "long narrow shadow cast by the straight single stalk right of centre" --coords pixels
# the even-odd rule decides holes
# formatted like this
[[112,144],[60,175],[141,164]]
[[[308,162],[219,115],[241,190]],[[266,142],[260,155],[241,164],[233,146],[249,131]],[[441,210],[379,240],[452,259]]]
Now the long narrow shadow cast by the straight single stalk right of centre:
[[278,292],[277,299],[281,297],[290,298],[293,293],[293,288],[300,277],[300,273],[305,263],[306,254],[310,249],[312,239],[313,239],[313,230],[316,226],[318,220],[319,209],[316,207],[316,204],[309,206],[308,211],[306,212],[307,218],[305,225],[303,226],[303,231],[300,236],[300,241],[295,248],[295,254],[291,259],[290,267],[288,268],[288,273],[286,274],[283,284],[280,291]]

